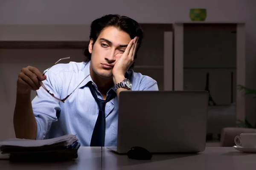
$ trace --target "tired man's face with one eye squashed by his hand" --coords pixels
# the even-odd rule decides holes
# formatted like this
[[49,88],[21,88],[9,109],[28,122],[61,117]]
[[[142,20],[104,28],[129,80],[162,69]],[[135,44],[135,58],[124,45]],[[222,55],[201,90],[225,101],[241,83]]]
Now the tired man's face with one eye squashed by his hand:
[[130,41],[130,35],[119,28],[111,26],[103,29],[94,45],[92,40],[89,44],[93,71],[100,77],[112,77],[113,66]]

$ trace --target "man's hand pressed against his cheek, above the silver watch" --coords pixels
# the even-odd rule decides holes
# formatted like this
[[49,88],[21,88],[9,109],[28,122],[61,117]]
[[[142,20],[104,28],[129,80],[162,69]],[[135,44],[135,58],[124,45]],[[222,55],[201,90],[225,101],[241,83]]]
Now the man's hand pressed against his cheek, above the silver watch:
[[119,83],[125,79],[125,73],[134,62],[134,55],[137,49],[138,39],[139,37],[135,37],[129,42],[125,52],[114,65],[112,70],[114,84]]

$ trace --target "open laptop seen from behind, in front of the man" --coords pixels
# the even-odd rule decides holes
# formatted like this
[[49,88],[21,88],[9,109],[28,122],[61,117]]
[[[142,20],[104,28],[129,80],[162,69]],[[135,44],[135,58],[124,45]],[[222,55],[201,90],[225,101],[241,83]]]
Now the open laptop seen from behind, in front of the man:
[[205,150],[207,91],[122,91],[119,94],[116,153],[134,146],[151,153]]

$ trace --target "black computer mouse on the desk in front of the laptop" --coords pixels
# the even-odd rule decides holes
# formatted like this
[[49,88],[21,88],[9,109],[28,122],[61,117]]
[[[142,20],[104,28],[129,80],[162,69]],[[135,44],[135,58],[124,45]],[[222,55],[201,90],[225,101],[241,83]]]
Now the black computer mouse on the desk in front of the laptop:
[[150,160],[152,158],[152,154],[148,150],[139,146],[131,147],[127,151],[127,156],[130,159],[137,160]]

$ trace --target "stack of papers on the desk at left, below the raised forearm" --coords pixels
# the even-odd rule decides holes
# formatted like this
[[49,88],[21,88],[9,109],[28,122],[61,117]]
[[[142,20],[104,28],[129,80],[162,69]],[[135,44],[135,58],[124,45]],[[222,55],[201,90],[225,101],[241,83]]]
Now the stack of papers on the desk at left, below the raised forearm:
[[76,159],[80,143],[76,135],[64,135],[53,139],[8,139],[0,142],[2,154],[10,154],[17,161],[60,161]]

